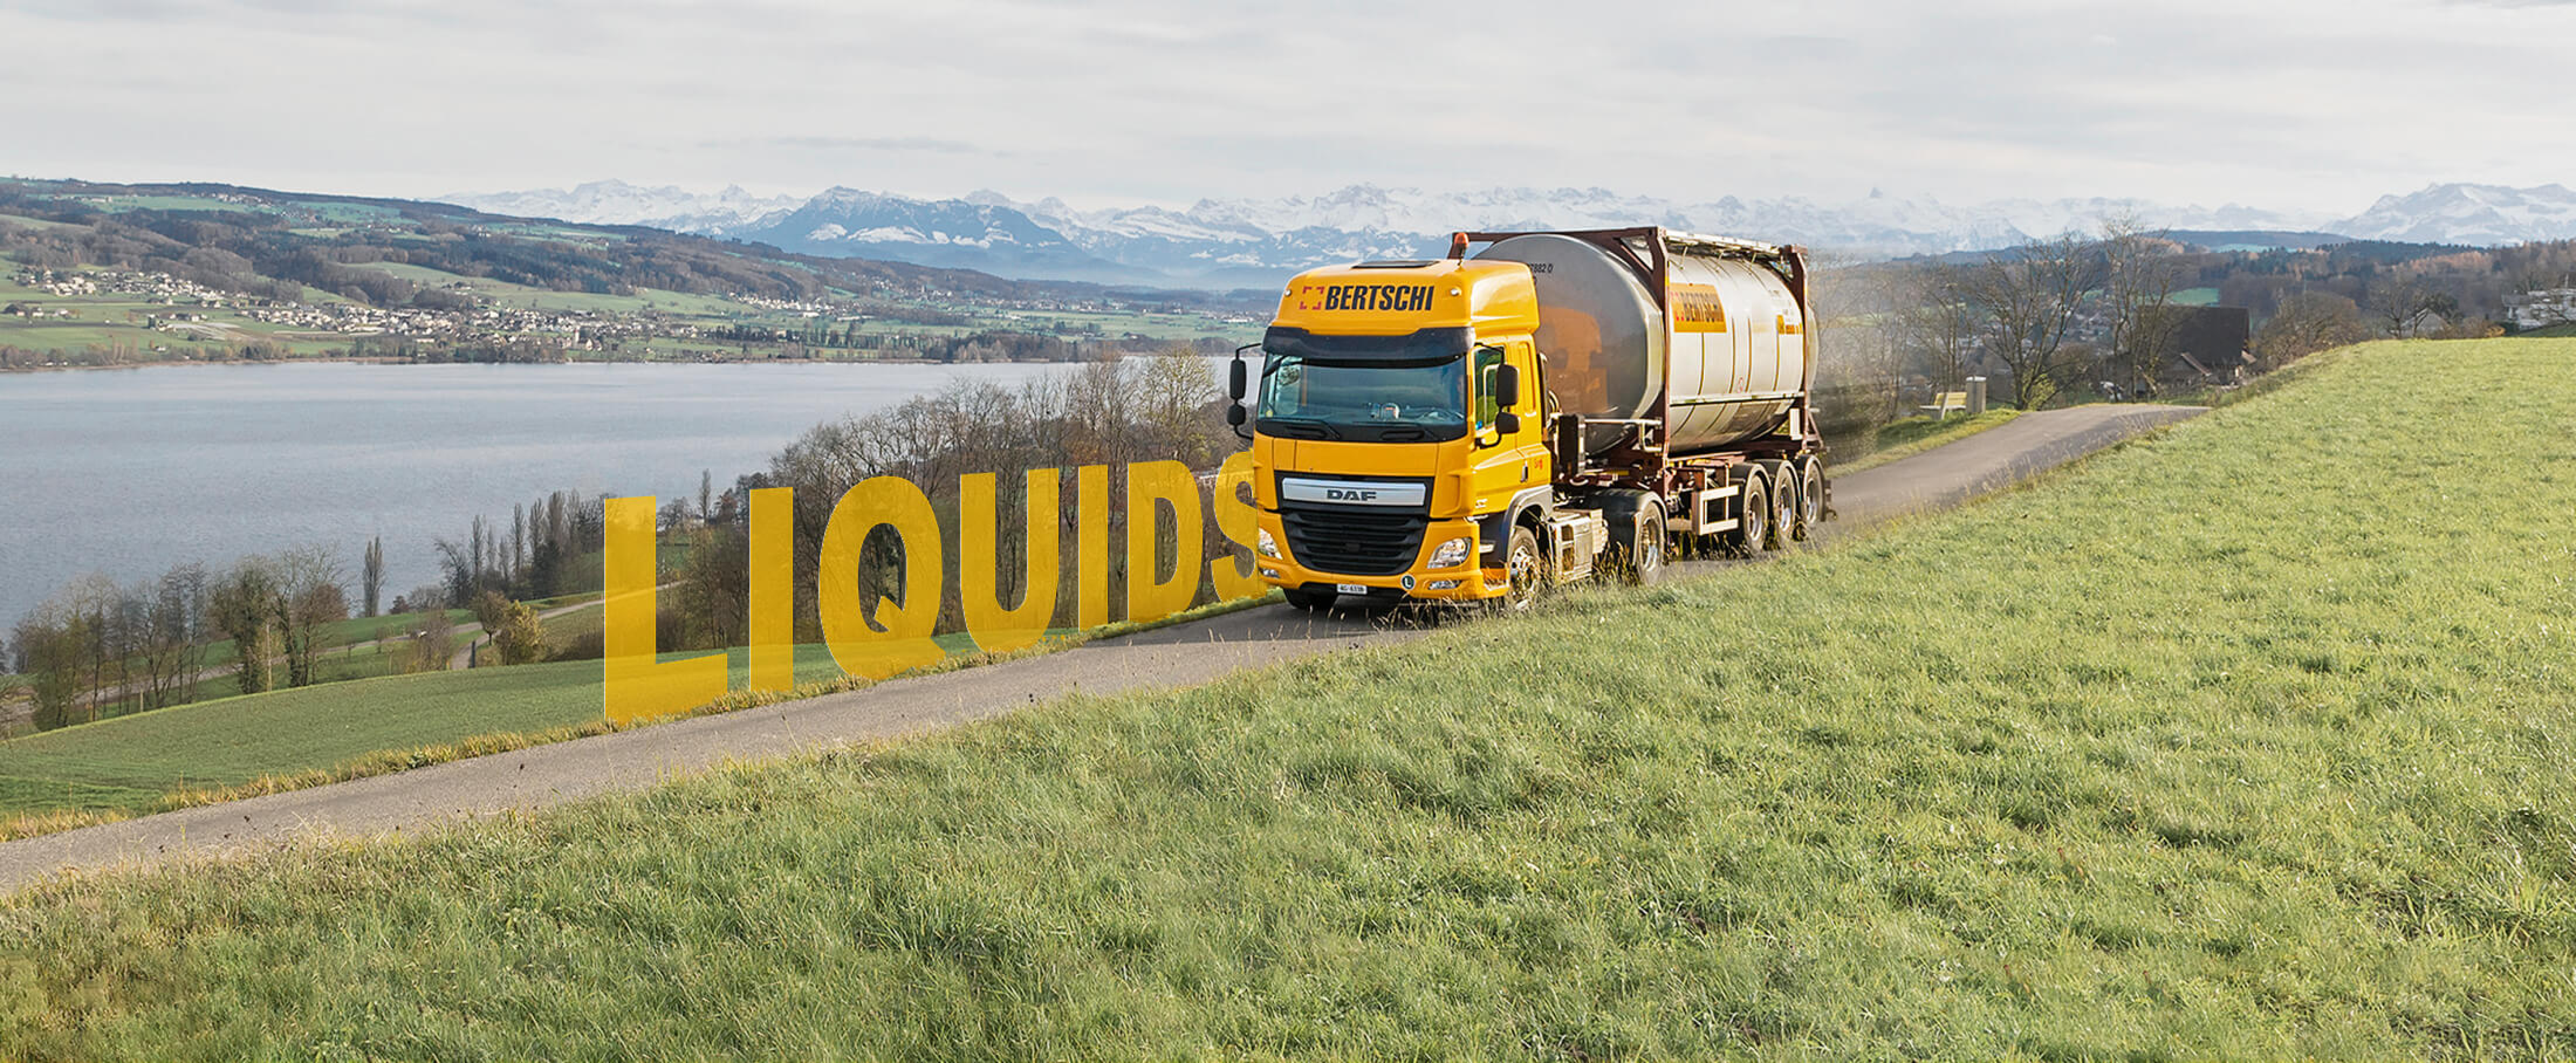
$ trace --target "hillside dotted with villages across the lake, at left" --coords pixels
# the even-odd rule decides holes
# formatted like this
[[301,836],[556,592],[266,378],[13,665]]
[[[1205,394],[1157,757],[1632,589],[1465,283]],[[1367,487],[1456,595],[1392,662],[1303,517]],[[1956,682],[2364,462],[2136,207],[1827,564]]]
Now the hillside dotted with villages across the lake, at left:
[[448,203],[0,180],[0,368],[322,353],[953,358],[974,340],[1236,337],[1260,309]]

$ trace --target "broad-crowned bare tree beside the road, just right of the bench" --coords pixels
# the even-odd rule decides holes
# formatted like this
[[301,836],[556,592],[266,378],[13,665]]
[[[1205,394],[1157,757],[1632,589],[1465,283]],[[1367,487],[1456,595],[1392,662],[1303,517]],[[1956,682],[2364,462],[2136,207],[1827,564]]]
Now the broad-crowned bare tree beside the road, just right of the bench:
[[2032,409],[2058,391],[2058,350],[2102,257],[2079,234],[2032,239],[1968,270],[1968,296],[1984,314],[1981,340],[2012,373],[2012,404]]

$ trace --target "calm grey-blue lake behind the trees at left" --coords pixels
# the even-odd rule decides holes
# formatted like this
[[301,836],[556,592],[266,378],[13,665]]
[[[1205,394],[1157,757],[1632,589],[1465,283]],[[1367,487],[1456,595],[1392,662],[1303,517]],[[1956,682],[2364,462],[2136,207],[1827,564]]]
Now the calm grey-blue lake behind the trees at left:
[[1069,365],[152,365],[0,373],[0,633],[64,582],[384,535],[384,597],[433,538],[554,489],[698,497],[806,427],[956,378]]

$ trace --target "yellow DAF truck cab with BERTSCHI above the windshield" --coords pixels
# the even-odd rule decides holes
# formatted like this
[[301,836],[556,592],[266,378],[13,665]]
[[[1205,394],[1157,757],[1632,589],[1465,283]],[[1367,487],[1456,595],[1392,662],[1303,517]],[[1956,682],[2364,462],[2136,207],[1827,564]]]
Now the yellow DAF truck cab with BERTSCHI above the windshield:
[[[1535,332],[1522,263],[1298,275],[1231,373],[1252,399],[1231,417],[1249,420],[1260,577],[1298,607],[1512,597],[1512,520],[1553,481]],[[1535,556],[1517,569],[1535,592]]]

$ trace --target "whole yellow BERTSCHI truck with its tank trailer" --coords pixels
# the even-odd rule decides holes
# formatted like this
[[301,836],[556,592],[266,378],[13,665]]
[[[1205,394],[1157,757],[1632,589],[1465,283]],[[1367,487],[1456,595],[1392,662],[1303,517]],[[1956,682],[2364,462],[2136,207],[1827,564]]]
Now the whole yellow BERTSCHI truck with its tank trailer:
[[1440,260],[1301,273],[1229,371],[1255,566],[1306,610],[1517,610],[1806,538],[1829,512],[1814,355],[1803,250],[1752,239],[1461,232]]

